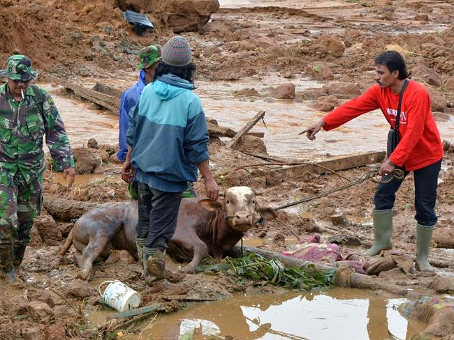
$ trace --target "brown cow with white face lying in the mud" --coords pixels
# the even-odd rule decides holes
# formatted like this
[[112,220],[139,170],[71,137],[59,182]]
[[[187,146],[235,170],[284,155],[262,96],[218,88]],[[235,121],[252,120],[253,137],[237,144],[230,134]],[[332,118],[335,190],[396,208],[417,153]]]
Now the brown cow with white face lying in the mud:
[[[136,225],[137,202],[105,203],[80,217],[61,249],[65,254],[71,244],[82,272],[91,275],[96,258],[106,258],[112,249],[124,249],[137,258]],[[184,272],[194,268],[204,256],[221,258],[251,228],[257,217],[274,219],[274,211],[256,201],[249,187],[231,187],[224,193],[224,200],[182,199],[178,212],[177,229],[169,242],[168,252],[177,258],[191,261]],[[82,253],[82,256],[80,256]]]

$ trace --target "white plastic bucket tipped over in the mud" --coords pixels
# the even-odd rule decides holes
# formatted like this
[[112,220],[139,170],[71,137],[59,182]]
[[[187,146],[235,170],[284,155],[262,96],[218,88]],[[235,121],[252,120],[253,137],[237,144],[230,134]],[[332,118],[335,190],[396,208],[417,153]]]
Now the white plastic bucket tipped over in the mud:
[[[101,286],[104,284],[109,285],[105,288],[104,293],[101,293]],[[137,308],[140,304],[139,293],[119,280],[104,281],[99,285],[98,292],[106,304],[119,312]]]

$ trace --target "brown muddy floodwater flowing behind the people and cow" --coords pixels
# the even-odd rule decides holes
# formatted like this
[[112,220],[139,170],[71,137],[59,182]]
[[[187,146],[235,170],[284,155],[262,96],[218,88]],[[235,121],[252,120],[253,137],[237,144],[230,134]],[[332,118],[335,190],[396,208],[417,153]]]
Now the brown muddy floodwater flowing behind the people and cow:
[[[136,74],[128,80],[109,79],[111,86],[126,88],[134,82]],[[219,125],[240,130],[258,111],[266,111],[265,124],[259,122],[251,131],[264,132],[263,141],[270,155],[316,160],[327,155],[383,150],[386,146],[388,124],[380,111],[372,111],[330,132],[320,132],[316,141],[309,141],[298,133],[322,114],[298,100],[274,100],[266,97],[270,85],[286,82],[276,75],[239,82],[197,82],[196,93],[200,96],[207,117],[214,118]],[[292,79],[296,92],[322,84],[307,79]],[[87,83],[85,86],[93,86]],[[50,86],[44,86],[50,89]],[[263,97],[249,98],[234,95],[242,88],[254,87]],[[82,146],[94,137],[100,144],[117,144],[118,116],[108,110],[95,110],[81,100],[53,95],[57,108],[64,120],[71,144]],[[441,138],[454,142],[454,117],[448,116],[437,122]]]

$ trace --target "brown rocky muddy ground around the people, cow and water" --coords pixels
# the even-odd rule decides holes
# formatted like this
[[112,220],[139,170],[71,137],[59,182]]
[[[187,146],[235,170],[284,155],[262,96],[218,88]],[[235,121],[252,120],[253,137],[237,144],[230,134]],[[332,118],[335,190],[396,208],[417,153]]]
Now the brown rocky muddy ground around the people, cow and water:
[[[135,52],[140,47],[150,42],[163,44],[173,35],[168,26],[170,19],[159,13],[149,13],[156,26],[154,31],[147,31],[143,36],[134,33],[122,19],[122,10],[140,10],[140,3],[0,0],[0,59],[6,61],[9,54],[17,52],[28,54],[42,73],[42,81],[51,73],[75,81],[82,81],[83,77],[108,79],[129,74],[134,70]],[[161,6],[163,1],[156,3]],[[198,77],[231,81],[260,79],[270,72],[278,72],[288,83],[302,77],[317,79],[325,83],[323,88],[294,93],[291,85],[273,91],[270,84],[270,93],[274,98],[311,100],[316,109],[329,111],[339,105],[339,100],[351,98],[370,86],[374,81],[372,59],[383,49],[394,48],[404,54],[413,79],[418,79],[430,91],[436,120],[452,119],[453,1],[318,1],[316,7],[311,4],[311,1],[276,1],[272,6],[221,8],[200,30],[182,33],[191,41]],[[268,94],[252,88],[237,93]],[[443,231],[439,243],[453,247],[450,231],[454,223],[454,146],[449,142],[454,144],[454,141],[445,143],[437,228]],[[112,162],[115,148],[101,145],[77,151],[80,173],[101,174],[89,183],[68,189],[52,172],[45,173],[45,209],[36,219],[33,240],[20,270],[24,288],[2,286],[0,339],[102,337],[99,330],[87,328],[82,315],[103,308],[98,304],[96,289],[105,279],[121,279],[142,294],[142,304],[166,302],[166,310],[177,309],[179,302],[191,298],[218,299],[237,291],[254,291],[253,283],[238,285],[226,275],[182,275],[181,264],[171,258],[166,272],[169,285],[164,290],[161,286],[149,288],[143,284],[140,265],[124,252],[115,252],[108,261],[97,264],[89,282],[77,279],[73,250],[66,256],[58,256],[74,220],[97,203],[129,199],[126,185],[119,179],[120,166]],[[242,148],[265,151],[261,141],[252,138],[244,141]],[[221,190],[231,185],[249,185],[270,206],[329,190],[345,183],[340,176],[356,180],[370,170],[361,167],[339,171],[340,176],[306,173],[291,178],[278,166],[233,171],[238,165],[265,161],[240,150],[227,149],[222,141],[212,140],[210,151],[216,164],[212,170]],[[339,194],[305,203],[298,209],[281,210],[279,219],[301,238],[321,233],[337,242],[342,254],[360,252],[372,244],[369,222],[375,187],[376,184],[367,181]],[[196,190],[203,194],[203,185],[196,183]],[[409,176],[397,197],[393,233],[395,249],[411,256],[416,247],[413,194]],[[248,231],[246,238],[263,240],[259,247],[282,252],[295,242],[295,236],[286,226],[268,222]],[[399,269],[379,276],[409,288],[409,298],[443,293],[444,288],[434,282],[441,275],[453,276],[454,255],[446,248],[437,247],[435,241],[432,246],[430,260],[437,267],[437,276],[404,274]],[[270,293],[277,292],[267,289]]]

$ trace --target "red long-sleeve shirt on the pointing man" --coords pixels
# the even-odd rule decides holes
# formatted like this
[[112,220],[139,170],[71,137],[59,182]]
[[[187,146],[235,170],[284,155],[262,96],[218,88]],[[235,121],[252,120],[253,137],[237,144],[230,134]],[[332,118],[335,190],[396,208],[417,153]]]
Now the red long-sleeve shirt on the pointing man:
[[[381,109],[394,128],[398,104],[398,94],[393,93],[389,87],[381,88],[376,84],[325,116],[323,120],[326,125],[323,129],[332,130],[374,109]],[[441,160],[443,145],[430,109],[429,93],[422,85],[415,81],[409,82],[400,111],[400,143],[389,157],[391,162],[412,171]]]

